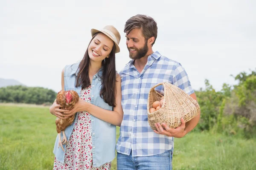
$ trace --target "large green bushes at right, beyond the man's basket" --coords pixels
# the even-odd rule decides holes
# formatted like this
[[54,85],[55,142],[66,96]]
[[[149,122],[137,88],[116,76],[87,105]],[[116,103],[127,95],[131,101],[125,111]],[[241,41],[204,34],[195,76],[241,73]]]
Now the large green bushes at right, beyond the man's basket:
[[223,84],[216,92],[205,80],[205,90],[196,92],[201,119],[195,130],[212,130],[226,135],[256,136],[256,71],[241,72],[238,85]]

